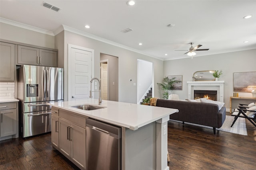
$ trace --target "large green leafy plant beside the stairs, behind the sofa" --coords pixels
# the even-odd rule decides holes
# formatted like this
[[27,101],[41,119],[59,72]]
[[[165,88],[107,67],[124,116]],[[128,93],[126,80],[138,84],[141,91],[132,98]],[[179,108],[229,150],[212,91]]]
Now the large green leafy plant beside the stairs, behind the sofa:
[[180,83],[180,80],[175,80],[176,77],[174,78],[168,78],[165,77],[163,80],[163,83],[157,83],[158,86],[161,88],[161,90],[163,91],[163,98],[164,99],[168,99],[169,96],[169,92],[172,91],[174,89],[174,85],[176,83]]

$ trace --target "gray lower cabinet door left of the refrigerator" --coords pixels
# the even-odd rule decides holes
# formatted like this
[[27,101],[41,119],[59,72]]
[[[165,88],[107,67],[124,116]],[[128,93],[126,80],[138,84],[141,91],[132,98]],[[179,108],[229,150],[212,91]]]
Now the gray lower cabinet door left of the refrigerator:
[[0,137],[15,135],[17,133],[17,109],[0,111]]

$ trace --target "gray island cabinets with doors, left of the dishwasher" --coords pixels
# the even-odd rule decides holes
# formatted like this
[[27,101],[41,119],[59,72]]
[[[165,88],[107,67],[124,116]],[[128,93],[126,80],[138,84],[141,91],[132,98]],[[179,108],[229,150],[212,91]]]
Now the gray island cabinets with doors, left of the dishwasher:
[[86,118],[61,109],[56,116],[56,110],[52,107],[52,146],[85,170]]

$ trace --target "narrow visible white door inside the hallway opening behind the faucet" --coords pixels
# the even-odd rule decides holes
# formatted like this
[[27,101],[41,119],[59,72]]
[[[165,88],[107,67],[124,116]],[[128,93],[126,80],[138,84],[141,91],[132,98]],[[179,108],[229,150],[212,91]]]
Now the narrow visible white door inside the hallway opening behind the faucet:
[[101,98],[108,100],[108,64],[100,63]]

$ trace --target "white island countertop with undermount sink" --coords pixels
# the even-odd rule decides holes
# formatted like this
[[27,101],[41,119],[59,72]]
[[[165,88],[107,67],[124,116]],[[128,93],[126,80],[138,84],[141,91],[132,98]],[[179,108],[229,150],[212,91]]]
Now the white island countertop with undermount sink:
[[[82,110],[71,107],[82,104],[90,104],[105,108],[96,110]],[[72,111],[80,115],[105,121],[114,125],[127,127],[131,130],[136,130],[144,125],[157,121],[158,119],[178,111],[178,109],[113,102],[108,100],[103,100],[102,105],[98,105],[97,99],[55,102],[48,105],[65,109],[67,111]]]

